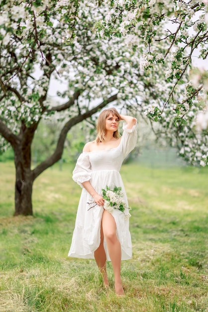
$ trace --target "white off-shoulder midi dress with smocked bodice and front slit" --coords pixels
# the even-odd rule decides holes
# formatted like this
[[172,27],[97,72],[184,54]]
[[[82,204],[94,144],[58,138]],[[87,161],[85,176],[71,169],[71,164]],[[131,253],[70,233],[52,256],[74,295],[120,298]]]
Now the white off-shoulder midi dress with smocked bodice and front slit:
[[[73,171],[73,180],[82,188],[82,182],[90,181],[96,192],[102,195],[102,188],[106,185],[113,189],[121,186],[124,200],[128,207],[128,201],[119,170],[124,158],[134,149],[137,140],[136,126],[126,129],[123,124],[123,135],[120,144],[116,148],[83,152],[77,159]],[[94,252],[101,242],[101,220],[104,208],[96,205],[89,209],[88,202],[94,201],[93,197],[83,188],[77,211],[75,229],[69,257],[94,259]],[[125,211],[127,214],[129,210]],[[124,213],[113,209],[112,216],[116,222],[116,233],[121,245],[121,260],[130,259],[132,256],[131,235],[129,232],[129,218],[124,218]],[[107,260],[110,260],[106,243],[104,248]]]

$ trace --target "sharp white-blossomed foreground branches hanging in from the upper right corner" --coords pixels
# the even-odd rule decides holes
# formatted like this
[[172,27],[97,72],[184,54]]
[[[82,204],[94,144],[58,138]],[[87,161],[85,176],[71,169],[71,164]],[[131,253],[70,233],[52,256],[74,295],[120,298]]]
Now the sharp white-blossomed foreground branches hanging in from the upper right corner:
[[[131,47],[143,55],[143,72],[155,87],[153,99],[146,92],[149,105],[139,110],[159,121],[162,127],[155,129],[156,135],[169,139],[189,163],[207,165],[208,0],[106,3],[111,10],[97,22],[100,35],[130,37]],[[199,60],[204,65],[198,65]]]

